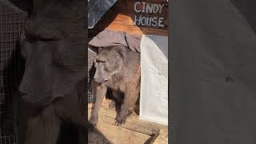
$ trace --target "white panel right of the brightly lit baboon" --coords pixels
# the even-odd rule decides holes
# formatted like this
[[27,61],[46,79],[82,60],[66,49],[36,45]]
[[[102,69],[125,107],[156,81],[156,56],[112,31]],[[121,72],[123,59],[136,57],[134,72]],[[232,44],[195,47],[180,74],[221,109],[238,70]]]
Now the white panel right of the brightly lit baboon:
[[168,125],[168,37],[142,35],[142,120]]

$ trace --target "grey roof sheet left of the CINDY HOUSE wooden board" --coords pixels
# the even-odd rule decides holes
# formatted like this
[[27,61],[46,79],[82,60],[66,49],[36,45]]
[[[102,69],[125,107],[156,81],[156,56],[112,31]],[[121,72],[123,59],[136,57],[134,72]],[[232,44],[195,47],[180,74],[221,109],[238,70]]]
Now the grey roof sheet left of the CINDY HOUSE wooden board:
[[88,28],[94,28],[106,11],[110,10],[110,7],[117,1],[118,0],[88,0]]

